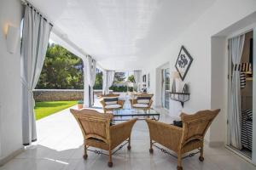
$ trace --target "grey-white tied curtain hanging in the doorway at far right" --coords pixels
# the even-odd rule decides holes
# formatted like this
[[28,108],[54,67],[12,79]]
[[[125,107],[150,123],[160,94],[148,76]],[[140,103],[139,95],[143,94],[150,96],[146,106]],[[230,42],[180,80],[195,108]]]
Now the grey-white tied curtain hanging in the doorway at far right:
[[230,144],[241,150],[241,83],[239,65],[241,61],[244,35],[229,40],[229,54],[232,59],[233,70],[230,96]]

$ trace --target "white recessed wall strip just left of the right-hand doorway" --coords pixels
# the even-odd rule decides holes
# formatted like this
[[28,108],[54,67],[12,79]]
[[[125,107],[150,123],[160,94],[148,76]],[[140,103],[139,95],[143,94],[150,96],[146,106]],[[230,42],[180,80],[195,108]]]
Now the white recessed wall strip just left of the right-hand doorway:
[[[227,101],[228,101],[228,57],[226,56],[227,44],[225,37],[212,37],[212,89],[211,89],[211,109],[221,108],[219,115],[212,123],[209,130],[209,139],[211,143],[223,141],[226,137],[226,128],[224,125],[227,122]],[[219,125],[224,127],[224,130],[219,130]]]

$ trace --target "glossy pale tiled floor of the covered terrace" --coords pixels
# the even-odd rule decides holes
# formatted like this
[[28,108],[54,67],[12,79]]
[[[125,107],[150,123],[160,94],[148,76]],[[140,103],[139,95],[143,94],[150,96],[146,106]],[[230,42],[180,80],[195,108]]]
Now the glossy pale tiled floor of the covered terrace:
[[[172,122],[172,117],[162,114],[162,122]],[[9,161],[0,170],[84,170],[110,169],[108,156],[89,152],[88,160],[83,159],[83,137],[77,122],[69,110],[61,111],[37,122],[38,142]],[[132,130],[131,151],[126,148],[113,156],[112,169],[176,169],[177,160],[154,149],[148,152],[148,127],[139,121]],[[188,170],[251,170],[252,164],[232,154],[224,147],[205,147],[205,161],[198,156],[183,160],[183,169]]]

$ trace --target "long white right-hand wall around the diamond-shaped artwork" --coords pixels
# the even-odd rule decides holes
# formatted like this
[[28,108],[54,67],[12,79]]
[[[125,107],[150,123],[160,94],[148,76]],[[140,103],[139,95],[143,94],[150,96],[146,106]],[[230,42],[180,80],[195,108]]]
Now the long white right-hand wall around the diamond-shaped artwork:
[[[224,110],[224,105],[218,105],[219,102],[215,103],[212,101],[216,100],[216,97],[212,95],[216,91],[215,82],[212,82],[214,81],[214,79],[212,80],[212,66],[219,67],[219,65],[222,65],[222,63],[219,63],[218,59],[213,60],[215,64],[212,65],[212,36],[246,17],[248,14],[252,14],[254,11],[256,11],[256,1],[254,0],[216,1],[212,7],[208,8],[207,12],[202,14],[193,25],[189,26],[180,37],[170,42],[170,45],[166,47],[161,54],[152,56],[148,64],[148,72],[155,76],[154,78],[152,77],[152,81],[155,81],[156,77],[160,76],[156,73],[156,68],[166,62],[170,62],[170,71],[175,71],[174,65],[177,54],[183,45],[194,58],[184,81],[189,83],[191,95],[190,100],[184,104],[183,111],[193,113],[204,109],[220,108]],[[214,72],[214,74],[217,73],[218,72]],[[152,81],[152,84],[156,83]],[[220,83],[223,85],[222,82]],[[212,86],[214,86],[214,88],[212,88]],[[221,97],[223,96],[220,96],[220,98]],[[176,106],[173,107],[180,106],[176,104]],[[176,116],[179,113],[172,112],[171,114]],[[212,134],[207,134],[207,140],[224,142],[223,133],[218,137],[218,133],[225,130],[224,124],[219,125],[219,123],[224,123],[223,117],[224,112],[222,111],[212,123],[212,127],[209,131]]]

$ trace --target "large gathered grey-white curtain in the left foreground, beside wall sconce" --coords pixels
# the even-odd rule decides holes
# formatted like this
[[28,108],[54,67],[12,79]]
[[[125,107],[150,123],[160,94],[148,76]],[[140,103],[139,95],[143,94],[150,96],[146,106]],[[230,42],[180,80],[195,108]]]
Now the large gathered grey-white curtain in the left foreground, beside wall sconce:
[[21,45],[21,81],[22,81],[22,131],[23,144],[37,140],[32,90],[38,83],[49,41],[52,26],[33,8],[26,6],[22,45]]

